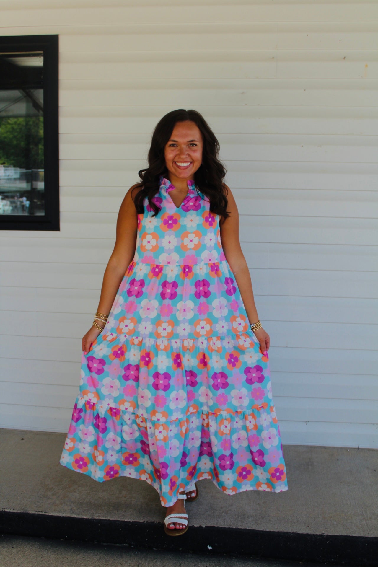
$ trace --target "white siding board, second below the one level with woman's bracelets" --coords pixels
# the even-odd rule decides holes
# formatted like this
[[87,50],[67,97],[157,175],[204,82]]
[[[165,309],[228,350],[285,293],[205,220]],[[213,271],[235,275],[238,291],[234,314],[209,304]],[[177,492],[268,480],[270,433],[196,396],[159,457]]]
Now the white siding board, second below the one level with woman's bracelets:
[[[79,362],[2,358],[0,382],[49,384],[79,388]],[[359,374],[348,381],[345,374],[277,372],[271,374],[274,397],[378,400],[376,376]]]

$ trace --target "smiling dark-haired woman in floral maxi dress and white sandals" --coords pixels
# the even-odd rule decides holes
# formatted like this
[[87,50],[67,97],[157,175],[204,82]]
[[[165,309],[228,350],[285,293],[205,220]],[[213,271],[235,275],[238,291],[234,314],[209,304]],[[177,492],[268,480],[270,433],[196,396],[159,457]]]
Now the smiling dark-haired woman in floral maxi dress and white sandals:
[[61,463],[146,480],[188,529],[195,481],[226,494],[287,490],[239,215],[219,143],[196,111],[169,112],[126,193]]

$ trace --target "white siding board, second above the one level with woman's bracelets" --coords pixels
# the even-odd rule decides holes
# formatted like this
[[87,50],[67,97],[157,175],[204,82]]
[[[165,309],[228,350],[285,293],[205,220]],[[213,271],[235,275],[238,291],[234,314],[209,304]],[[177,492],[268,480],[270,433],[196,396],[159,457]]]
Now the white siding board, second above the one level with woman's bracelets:
[[[4,286],[100,290],[103,264],[2,263]],[[256,295],[377,298],[377,273],[250,269]]]

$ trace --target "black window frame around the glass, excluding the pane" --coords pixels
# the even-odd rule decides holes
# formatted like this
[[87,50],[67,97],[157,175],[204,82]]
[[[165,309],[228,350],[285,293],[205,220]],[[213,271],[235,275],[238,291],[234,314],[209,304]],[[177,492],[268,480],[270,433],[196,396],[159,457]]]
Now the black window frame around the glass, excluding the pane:
[[[1,36],[0,51],[43,52],[44,215],[0,215],[0,230],[60,230],[58,35]],[[1,78],[0,78],[1,82]]]

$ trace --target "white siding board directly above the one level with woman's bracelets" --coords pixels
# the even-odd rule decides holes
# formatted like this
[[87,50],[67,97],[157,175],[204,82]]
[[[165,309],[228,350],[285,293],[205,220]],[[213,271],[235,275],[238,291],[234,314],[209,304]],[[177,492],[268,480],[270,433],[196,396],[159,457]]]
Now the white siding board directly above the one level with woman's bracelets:
[[[265,321],[265,325],[267,321],[376,324],[376,299],[254,295],[260,319]],[[0,310],[15,314],[45,312],[92,316],[98,301],[97,290],[2,287]]]

